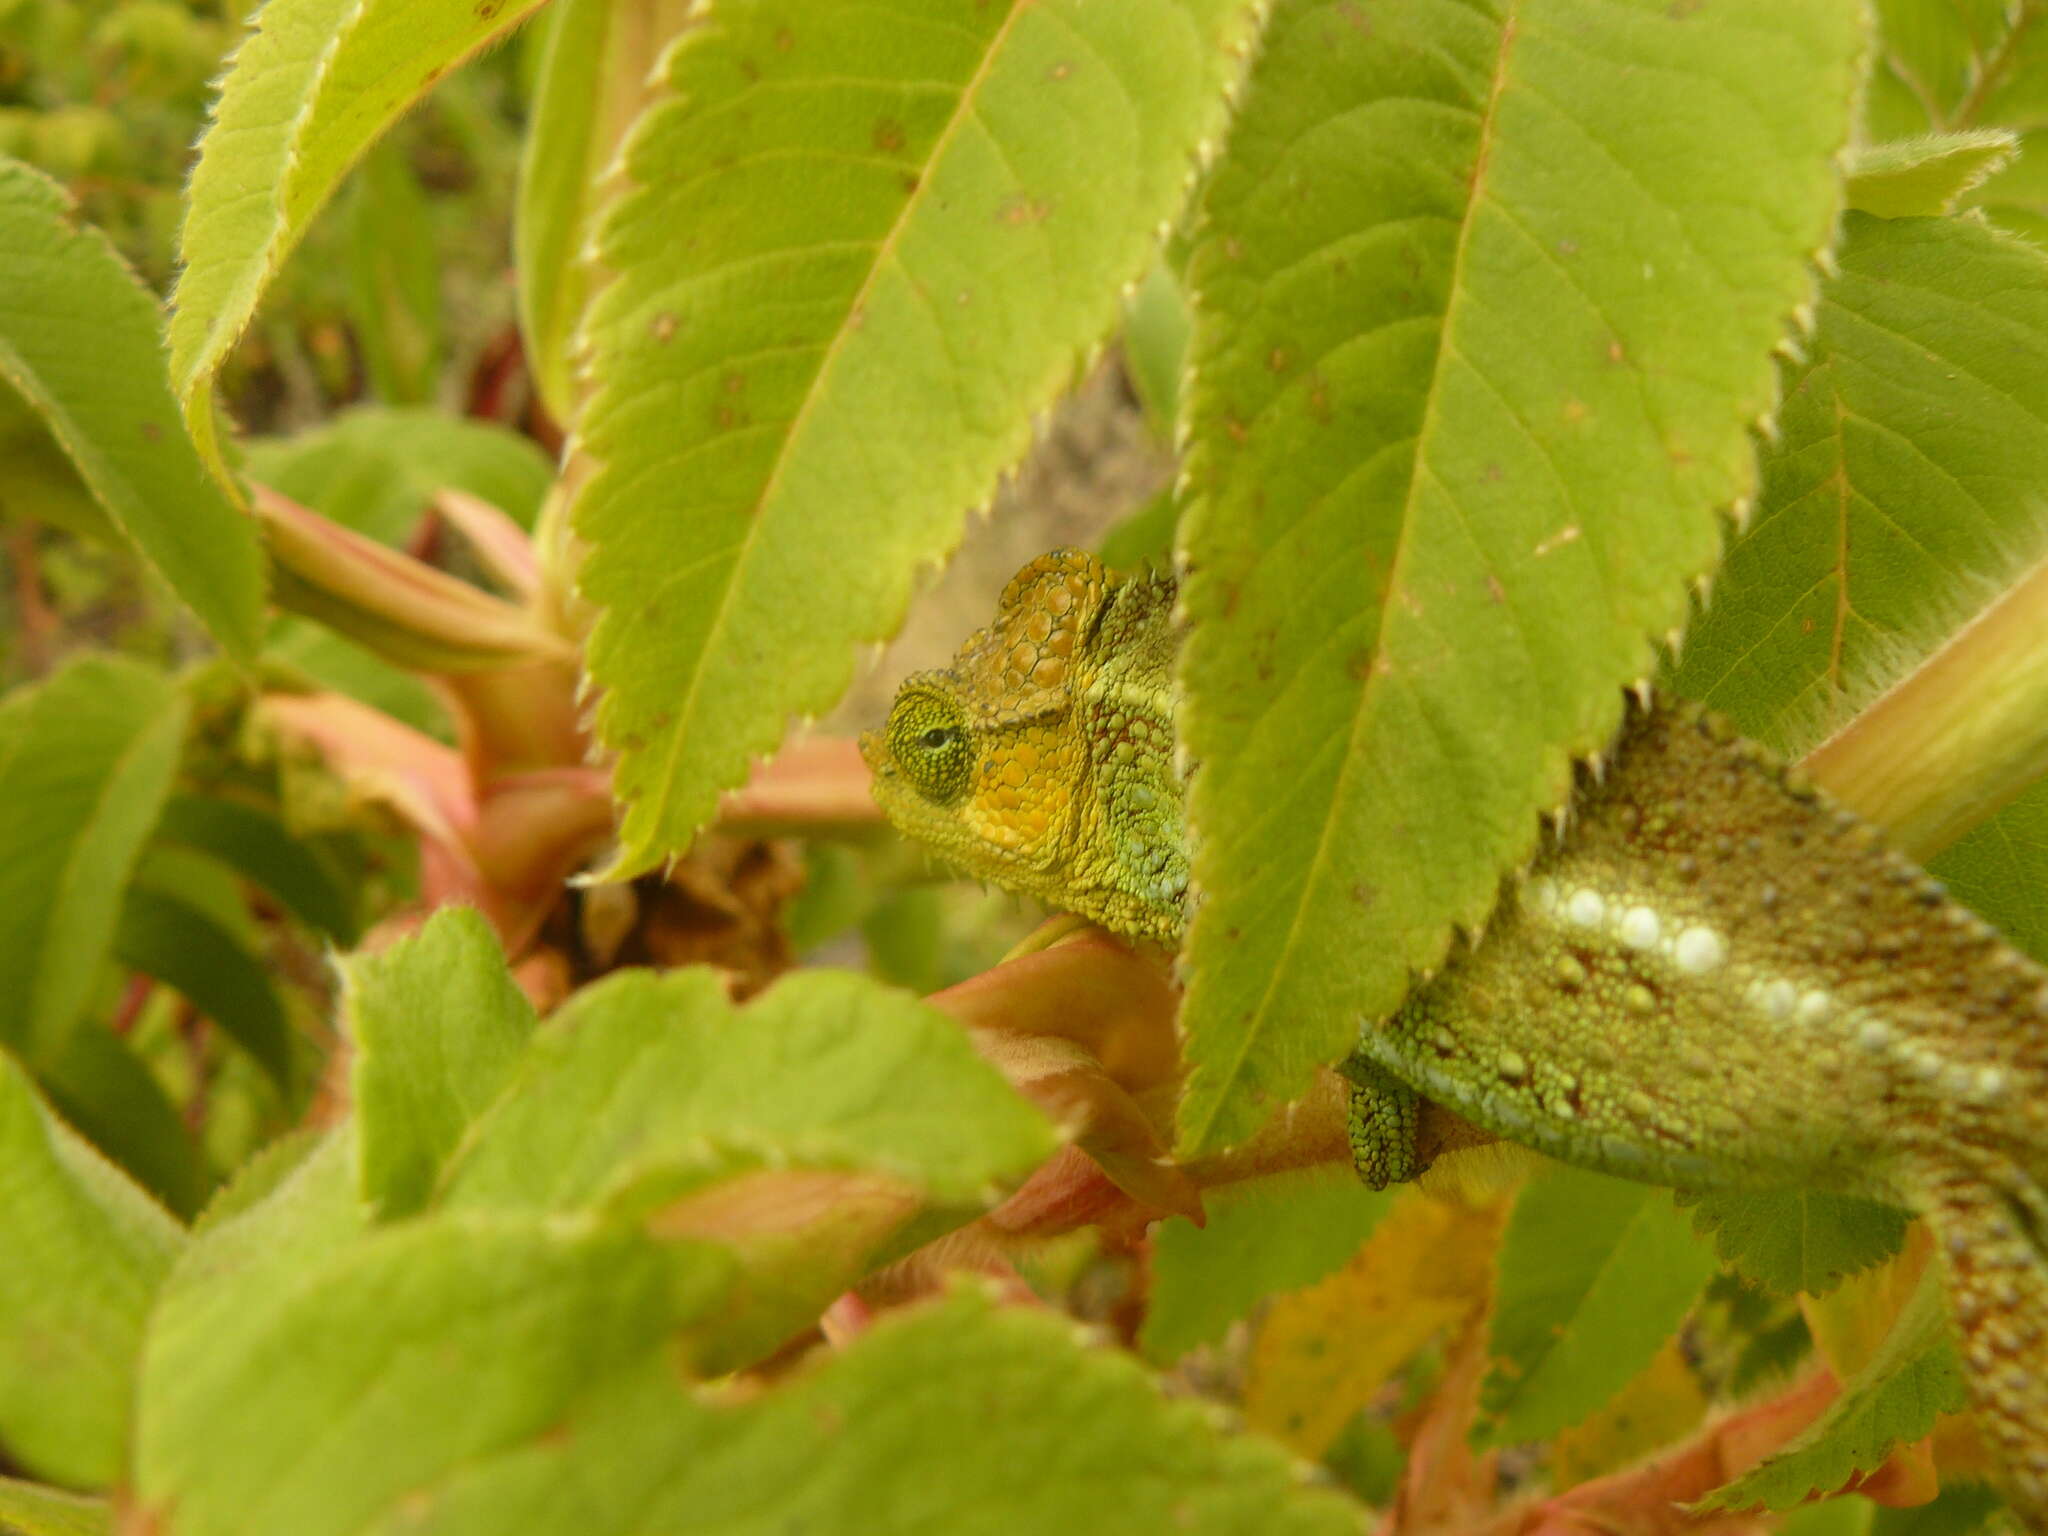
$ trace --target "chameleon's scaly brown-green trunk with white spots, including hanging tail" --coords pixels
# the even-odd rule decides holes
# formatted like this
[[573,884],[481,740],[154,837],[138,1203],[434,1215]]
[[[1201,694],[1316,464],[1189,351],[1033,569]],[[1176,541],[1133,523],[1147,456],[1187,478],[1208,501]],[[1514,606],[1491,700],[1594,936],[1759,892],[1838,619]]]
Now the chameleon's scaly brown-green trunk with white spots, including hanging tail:
[[1634,713],[1360,1067],[1583,1167],[1923,1217],[2007,1497],[2048,1528],[2048,971],[1761,748]]

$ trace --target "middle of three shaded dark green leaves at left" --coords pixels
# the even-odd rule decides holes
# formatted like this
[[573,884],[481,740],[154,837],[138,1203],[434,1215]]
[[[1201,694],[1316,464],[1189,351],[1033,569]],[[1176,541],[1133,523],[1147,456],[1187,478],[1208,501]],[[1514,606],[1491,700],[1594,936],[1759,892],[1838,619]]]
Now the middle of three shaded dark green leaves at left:
[[164,891],[133,887],[121,903],[115,958],[184,993],[291,1092],[291,1024],[262,965],[205,911]]

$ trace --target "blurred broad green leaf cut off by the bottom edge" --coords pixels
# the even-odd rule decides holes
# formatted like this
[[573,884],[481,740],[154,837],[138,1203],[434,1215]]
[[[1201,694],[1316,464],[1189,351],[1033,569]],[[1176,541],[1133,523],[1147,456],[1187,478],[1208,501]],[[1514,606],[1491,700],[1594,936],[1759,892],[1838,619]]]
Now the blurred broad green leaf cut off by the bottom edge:
[[418,1489],[375,1530],[1335,1536],[1364,1513],[1071,1323],[956,1292],[752,1401],[692,1399],[645,1368],[551,1434]]

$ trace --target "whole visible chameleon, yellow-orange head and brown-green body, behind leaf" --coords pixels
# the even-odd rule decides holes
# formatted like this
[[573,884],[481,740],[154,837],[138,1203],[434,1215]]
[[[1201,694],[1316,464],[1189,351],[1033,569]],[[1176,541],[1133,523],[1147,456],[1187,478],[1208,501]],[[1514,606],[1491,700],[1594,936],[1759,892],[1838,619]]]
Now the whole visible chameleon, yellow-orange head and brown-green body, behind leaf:
[[[961,868],[1174,948],[1188,836],[1174,584],[1040,555],[862,737],[887,817]],[[1571,831],[1343,1071],[1366,1182],[1425,1096],[1569,1163],[1812,1188],[1935,1235],[1970,1391],[2048,1530],[2048,969],[1874,825],[1692,707],[1632,707]]]

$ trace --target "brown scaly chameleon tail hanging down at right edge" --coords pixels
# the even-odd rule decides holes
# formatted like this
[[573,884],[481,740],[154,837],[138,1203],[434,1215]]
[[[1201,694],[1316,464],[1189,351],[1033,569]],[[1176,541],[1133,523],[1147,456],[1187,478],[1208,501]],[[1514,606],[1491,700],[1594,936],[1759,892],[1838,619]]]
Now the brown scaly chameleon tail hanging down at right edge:
[[2048,1194],[2003,1161],[1933,1169],[1915,1192],[2001,1489],[2025,1530],[2048,1534]]

